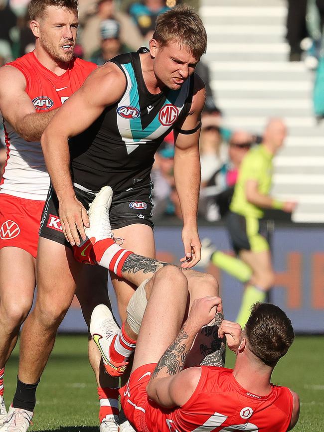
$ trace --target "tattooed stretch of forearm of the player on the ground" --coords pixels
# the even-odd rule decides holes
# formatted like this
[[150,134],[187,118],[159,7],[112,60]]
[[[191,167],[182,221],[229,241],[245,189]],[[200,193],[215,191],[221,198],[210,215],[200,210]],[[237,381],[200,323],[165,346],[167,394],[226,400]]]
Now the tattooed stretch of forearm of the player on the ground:
[[184,324],[174,342],[169,345],[162,355],[152,378],[156,378],[159,374],[160,377],[161,375],[175,375],[182,371],[193,338],[194,336],[188,336],[186,333]]

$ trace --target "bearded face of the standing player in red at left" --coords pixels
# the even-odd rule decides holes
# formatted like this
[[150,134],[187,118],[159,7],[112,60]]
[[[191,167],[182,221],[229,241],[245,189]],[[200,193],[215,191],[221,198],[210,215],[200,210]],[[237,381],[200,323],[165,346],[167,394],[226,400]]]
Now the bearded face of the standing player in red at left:
[[53,60],[66,63],[73,57],[78,16],[66,7],[48,6],[39,20],[39,41]]

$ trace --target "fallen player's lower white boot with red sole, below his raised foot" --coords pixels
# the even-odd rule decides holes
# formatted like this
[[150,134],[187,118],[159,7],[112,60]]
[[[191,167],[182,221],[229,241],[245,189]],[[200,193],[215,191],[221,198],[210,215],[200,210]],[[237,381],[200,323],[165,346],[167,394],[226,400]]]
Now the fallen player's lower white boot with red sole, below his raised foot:
[[98,304],[92,311],[90,319],[90,333],[97,345],[105,369],[112,377],[120,377],[126,370],[128,362],[114,362],[109,357],[109,347],[115,343],[120,332],[113,314],[105,304]]

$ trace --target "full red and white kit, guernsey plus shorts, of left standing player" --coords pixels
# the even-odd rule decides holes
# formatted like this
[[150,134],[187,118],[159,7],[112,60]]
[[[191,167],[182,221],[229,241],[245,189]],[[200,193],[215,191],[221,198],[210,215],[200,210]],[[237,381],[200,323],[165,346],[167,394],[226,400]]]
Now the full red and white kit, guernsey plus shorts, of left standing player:
[[[68,70],[57,76],[46,69],[33,52],[7,64],[24,75],[25,92],[37,113],[59,108],[97,67],[94,63],[74,58]],[[3,126],[7,158],[0,183],[0,249],[16,247],[36,258],[49,175],[40,143],[25,141],[5,118]]]

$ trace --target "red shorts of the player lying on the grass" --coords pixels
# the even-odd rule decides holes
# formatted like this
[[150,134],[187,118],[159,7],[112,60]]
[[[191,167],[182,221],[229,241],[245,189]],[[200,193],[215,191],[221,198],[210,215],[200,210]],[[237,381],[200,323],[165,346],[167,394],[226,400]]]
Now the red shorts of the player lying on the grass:
[[131,374],[126,386],[119,390],[126,418],[137,431],[150,432],[145,422],[145,410],[148,405],[146,386],[156,366],[157,363],[140,366]]

